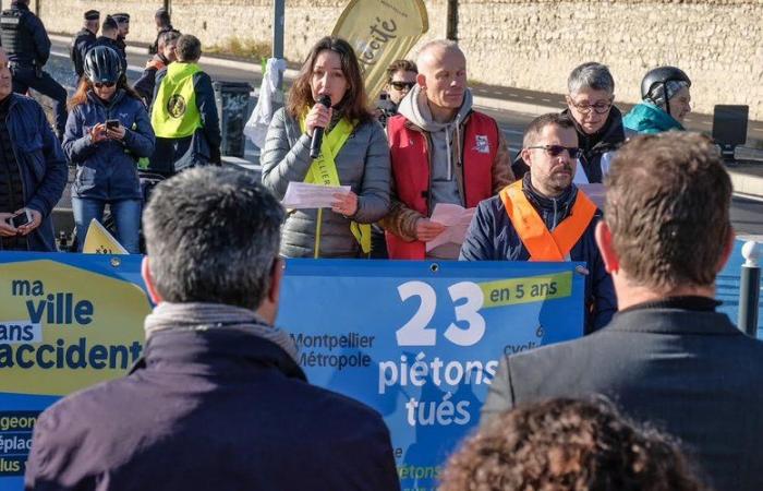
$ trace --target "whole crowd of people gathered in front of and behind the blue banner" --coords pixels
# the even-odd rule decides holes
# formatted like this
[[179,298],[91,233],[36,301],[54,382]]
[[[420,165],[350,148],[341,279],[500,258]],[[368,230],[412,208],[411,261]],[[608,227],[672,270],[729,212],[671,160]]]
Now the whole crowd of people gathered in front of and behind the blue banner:
[[[196,37],[157,12],[154,57],[130,85],[130,15],[84,22],[66,103],[28,1],[1,14],[0,250],[55,250],[50,214],[74,165],[80,244],[107,204],[129,252],[143,228],[157,307],[129,375],[39,417],[27,489],[398,489],[380,416],[310,385],[274,326],[284,258],[585,263],[585,336],[501,359],[443,489],[763,489],[763,420],[748,416],[763,345],[715,312],[731,183],[712,142],[683,131],[680,69],[649,71],[623,116],[607,67],[578,65],[567,108],[535,118],[512,156],[472,105],[457,43],[392,63],[372,109],[351,45],[328,36],[274,115],[256,176],[219,166]],[[55,100],[53,128],[29,87]],[[138,167],[168,178],[150,200]],[[291,182],[349,191],[287,211]],[[602,182],[600,209],[578,184]],[[427,247],[439,204],[475,208],[463,243]]]

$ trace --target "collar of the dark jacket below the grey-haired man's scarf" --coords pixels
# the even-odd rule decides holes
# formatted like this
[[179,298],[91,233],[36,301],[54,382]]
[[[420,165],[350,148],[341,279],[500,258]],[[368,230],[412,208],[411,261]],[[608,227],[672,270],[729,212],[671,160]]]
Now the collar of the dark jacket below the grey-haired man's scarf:
[[196,375],[277,370],[306,381],[299,364],[278,345],[242,330],[160,331],[146,340],[130,373],[140,370]]

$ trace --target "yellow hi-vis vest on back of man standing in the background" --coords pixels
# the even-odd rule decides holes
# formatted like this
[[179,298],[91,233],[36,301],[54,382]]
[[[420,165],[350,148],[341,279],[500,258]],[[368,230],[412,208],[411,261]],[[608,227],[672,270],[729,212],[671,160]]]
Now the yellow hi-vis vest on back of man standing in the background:
[[162,139],[191,136],[202,128],[202,115],[196,107],[193,75],[201,72],[196,63],[175,61],[167,67],[152,108],[154,133]]

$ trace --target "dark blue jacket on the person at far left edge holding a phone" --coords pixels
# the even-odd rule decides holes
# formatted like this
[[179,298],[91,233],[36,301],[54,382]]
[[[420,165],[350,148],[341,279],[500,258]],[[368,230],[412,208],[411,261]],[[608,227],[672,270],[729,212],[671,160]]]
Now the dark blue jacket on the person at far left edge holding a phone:
[[66,185],[66,157],[40,105],[19,94],[9,97],[7,124],[21,169],[24,203],[43,214],[40,226],[27,236],[29,250],[56,251],[50,213]]

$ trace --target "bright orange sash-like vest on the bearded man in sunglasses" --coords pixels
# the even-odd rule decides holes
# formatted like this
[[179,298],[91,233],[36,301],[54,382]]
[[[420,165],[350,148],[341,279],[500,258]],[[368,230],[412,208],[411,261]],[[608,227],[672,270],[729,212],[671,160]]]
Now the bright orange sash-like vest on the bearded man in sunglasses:
[[569,216],[549,231],[524,195],[522,180],[507,185],[499,195],[511,225],[530,252],[530,261],[566,261],[596,214],[593,201],[578,190]]

